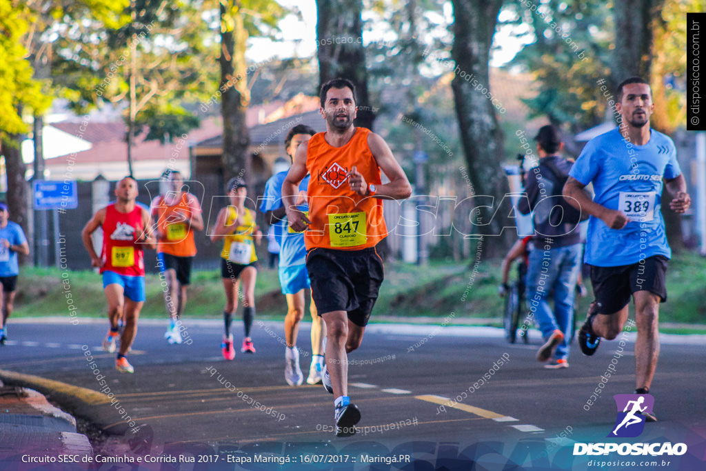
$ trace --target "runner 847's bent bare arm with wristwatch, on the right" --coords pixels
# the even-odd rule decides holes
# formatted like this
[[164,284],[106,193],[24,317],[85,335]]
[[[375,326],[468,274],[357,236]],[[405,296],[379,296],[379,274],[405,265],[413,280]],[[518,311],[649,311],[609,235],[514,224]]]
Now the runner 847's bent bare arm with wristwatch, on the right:
[[[368,147],[370,148],[373,157],[375,157],[378,167],[380,167],[390,183],[378,185],[375,193],[375,198],[386,198],[394,200],[402,200],[409,198],[412,195],[412,185],[409,184],[407,175],[400,167],[400,164],[395,160],[393,151],[390,150],[385,140],[376,133],[368,135]],[[353,167],[348,172],[348,184],[352,191],[355,191],[360,196],[368,196],[368,183],[363,176]]]

